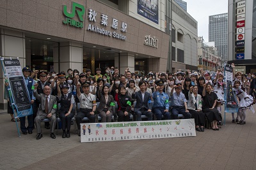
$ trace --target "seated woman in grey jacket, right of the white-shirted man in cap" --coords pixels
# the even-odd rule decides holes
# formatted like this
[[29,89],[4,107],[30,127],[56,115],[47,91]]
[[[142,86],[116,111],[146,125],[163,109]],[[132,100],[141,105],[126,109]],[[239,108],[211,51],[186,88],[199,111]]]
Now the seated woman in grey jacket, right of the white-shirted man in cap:
[[103,90],[101,90],[101,92],[98,91],[98,96],[100,96],[100,104],[97,111],[99,111],[102,122],[111,122],[115,101],[113,96],[109,94],[109,85],[104,85],[102,89]]

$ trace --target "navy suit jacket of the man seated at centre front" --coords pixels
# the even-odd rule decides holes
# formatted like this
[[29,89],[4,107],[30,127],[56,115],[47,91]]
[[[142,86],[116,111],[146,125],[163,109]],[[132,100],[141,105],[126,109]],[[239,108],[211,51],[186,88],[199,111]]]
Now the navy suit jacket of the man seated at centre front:
[[144,100],[142,99],[141,91],[132,93],[132,99],[136,99],[136,105],[134,111],[138,111],[141,108],[146,108],[147,110],[152,110],[151,96],[148,92],[145,92]]

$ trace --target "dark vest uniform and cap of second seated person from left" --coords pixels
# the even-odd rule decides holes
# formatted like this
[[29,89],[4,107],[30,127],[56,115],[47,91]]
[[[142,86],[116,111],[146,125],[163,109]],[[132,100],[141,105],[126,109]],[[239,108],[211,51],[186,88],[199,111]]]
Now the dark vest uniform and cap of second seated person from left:
[[[69,88],[67,83],[64,83],[61,87],[61,89],[63,88]],[[74,97],[72,95],[72,93],[67,93],[67,94],[61,94],[61,96],[58,96],[58,99],[60,101],[60,110],[59,110],[59,117],[61,119],[61,125],[62,125],[62,130],[63,130],[63,134],[62,134],[62,138],[69,138],[70,137],[70,126],[71,126],[71,119],[74,117],[74,110],[72,109],[72,111],[69,111],[70,109],[70,105],[71,104],[75,104],[74,101]],[[67,117],[65,116],[67,113],[69,113],[67,115]],[[66,127],[67,127],[67,133],[66,131]]]

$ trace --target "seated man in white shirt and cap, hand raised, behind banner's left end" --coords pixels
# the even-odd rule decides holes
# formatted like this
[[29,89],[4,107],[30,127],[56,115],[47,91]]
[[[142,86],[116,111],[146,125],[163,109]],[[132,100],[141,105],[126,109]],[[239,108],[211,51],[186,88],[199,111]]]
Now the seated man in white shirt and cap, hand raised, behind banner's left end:
[[80,124],[84,117],[88,117],[91,123],[95,123],[96,97],[90,94],[90,83],[87,81],[82,84],[83,94],[79,90],[81,83],[77,83],[77,97],[80,101],[80,109],[77,111],[76,123],[78,136],[81,136]]

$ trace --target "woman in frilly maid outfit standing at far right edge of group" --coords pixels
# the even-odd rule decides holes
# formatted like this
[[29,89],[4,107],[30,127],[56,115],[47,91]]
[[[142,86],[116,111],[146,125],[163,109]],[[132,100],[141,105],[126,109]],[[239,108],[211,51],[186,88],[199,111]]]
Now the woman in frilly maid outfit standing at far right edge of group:
[[240,121],[237,124],[244,125],[246,119],[246,110],[249,108],[253,113],[255,113],[253,109],[253,97],[246,94],[243,89],[241,89],[241,81],[234,81],[234,92],[237,96],[237,101],[239,101],[239,110],[237,115],[240,117]]

